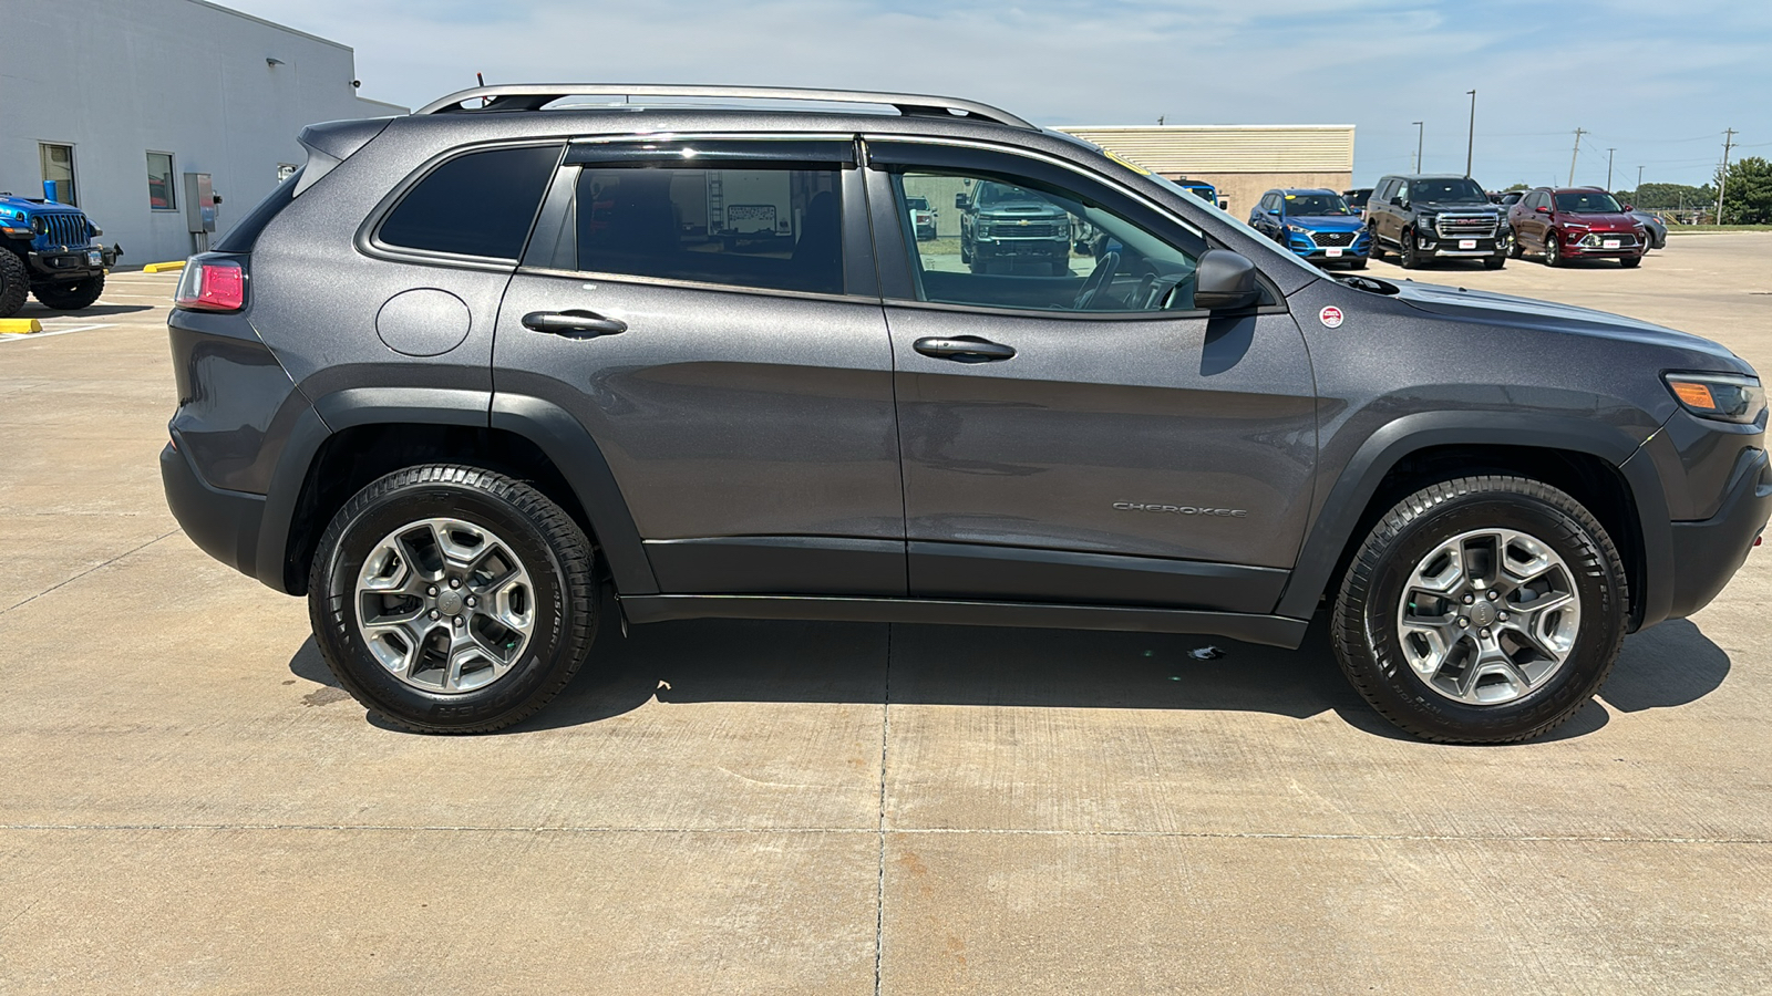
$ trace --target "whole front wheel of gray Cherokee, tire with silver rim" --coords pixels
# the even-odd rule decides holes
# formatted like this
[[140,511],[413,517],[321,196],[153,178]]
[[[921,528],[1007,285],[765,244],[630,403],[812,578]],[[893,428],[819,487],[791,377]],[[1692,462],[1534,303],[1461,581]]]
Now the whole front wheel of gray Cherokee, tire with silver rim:
[[[1481,542],[1487,530],[1510,530],[1515,541],[1496,541],[1490,564],[1483,565]],[[1434,556],[1448,546],[1455,546],[1462,537],[1478,533],[1471,548],[1460,548],[1458,560],[1448,562],[1435,571],[1441,578],[1457,578],[1453,587],[1469,587],[1471,580],[1480,581],[1478,588],[1496,585],[1506,588],[1513,578],[1503,578],[1494,567],[1497,558],[1519,555],[1520,537],[1538,544],[1545,564],[1554,564],[1540,578],[1558,578],[1572,595],[1563,604],[1572,603],[1574,633],[1558,638],[1566,640],[1565,658],[1542,672],[1538,679],[1527,682],[1520,691],[1517,677],[1526,675],[1524,668],[1542,666],[1554,658],[1542,654],[1535,645],[1519,640],[1519,626],[1533,633],[1543,633],[1549,626],[1566,626],[1563,617],[1568,608],[1550,608],[1556,615],[1540,617],[1531,608],[1531,601],[1547,597],[1533,592],[1531,585],[1519,585],[1499,601],[1488,601],[1496,592],[1476,594],[1476,604],[1460,595],[1437,599],[1428,595],[1428,608],[1439,608],[1441,615],[1418,617],[1439,620],[1444,631],[1457,638],[1441,650],[1418,636],[1403,634],[1405,594],[1407,608],[1412,611],[1426,588],[1416,578],[1426,576]],[[1481,569],[1481,576],[1476,571]],[[1483,578],[1488,580],[1483,580]],[[1600,523],[1574,498],[1550,487],[1549,484],[1522,477],[1483,475],[1448,480],[1416,491],[1398,502],[1366,535],[1356,553],[1331,617],[1331,638],[1336,659],[1354,688],[1386,720],[1396,723],[1409,734],[1441,743],[1515,743],[1536,737],[1574,716],[1611,673],[1613,663],[1625,640],[1628,622],[1628,592],[1625,565],[1613,546],[1613,539]],[[1549,583],[1545,583],[1549,587]],[[1552,603],[1554,606],[1556,603]],[[1471,606],[1471,608],[1464,608]],[[1487,608],[1485,608],[1487,606]],[[1503,610],[1499,615],[1494,610]],[[1510,626],[1503,626],[1513,610]],[[1448,613],[1455,613],[1460,622],[1446,624]],[[1480,613],[1483,613],[1480,617]],[[1469,626],[1467,626],[1469,624]],[[1476,629],[1481,626],[1481,629]],[[1494,626],[1490,631],[1488,627]],[[1418,627],[1421,629],[1421,627]],[[1481,642],[1476,634],[1481,634]],[[1414,642],[1405,652],[1403,642]],[[1512,649],[1501,642],[1508,640]],[[1510,658],[1527,661],[1520,668],[1499,666],[1501,658],[1474,661],[1458,656],[1457,650],[1483,647],[1492,642]],[[1549,645],[1549,643],[1540,643]],[[1439,652],[1439,665],[1434,673],[1423,677],[1419,658],[1425,650]],[[1542,659],[1540,659],[1542,658]],[[1478,666],[1481,665],[1481,666]],[[1476,666],[1474,672],[1469,668]],[[1512,668],[1512,672],[1510,672]],[[1457,689],[1460,681],[1469,682],[1467,698],[1481,698],[1481,691],[1496,691],[1497,684],[1485,684],[1487,677],[1503,677],[1506,691],[1515,691],[1512,698],[1492,695],[1494,702],[1465,702],[1446,684]]]

